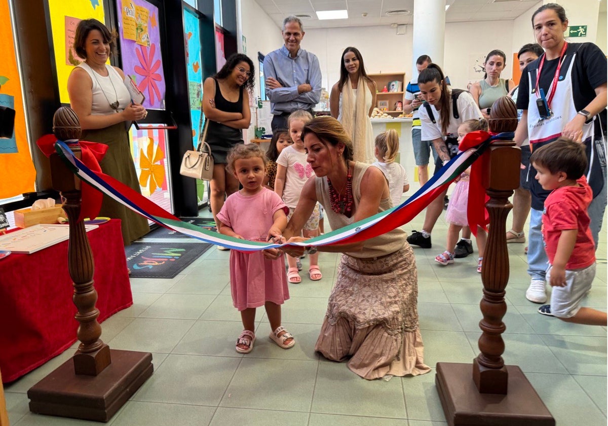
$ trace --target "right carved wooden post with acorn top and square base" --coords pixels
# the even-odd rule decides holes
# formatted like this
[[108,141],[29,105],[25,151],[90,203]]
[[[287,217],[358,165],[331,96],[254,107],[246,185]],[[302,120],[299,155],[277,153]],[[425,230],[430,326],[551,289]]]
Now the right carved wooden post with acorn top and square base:
[[[494,133],[515,130],[517,109],[510,97],[492,105],[489,125]],[[488,161],[482,179],[489,196],[486,208],[490,224],[482,267],[481,353],[472,365],[437,363],[437,391],[450,426],[554,426],[551,413],[521,369],[505,365],[502,358],[502,333],[506,329],[502,318],[509,280],[506,217],[513,208],[508,197],[519,187],[520,150],[513,141],[500,141],[485,155]]]

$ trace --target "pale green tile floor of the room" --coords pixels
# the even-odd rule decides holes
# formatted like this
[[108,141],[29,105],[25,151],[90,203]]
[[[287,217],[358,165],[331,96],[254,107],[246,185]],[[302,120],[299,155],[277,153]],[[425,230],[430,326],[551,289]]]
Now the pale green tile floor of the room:
[[[420,229],[422,221],[420,214],[404,229]],[[108,424],[446,425],[435,388],[435,364],[469,363],[477,355],[482,295],[475,254],[448,267],[434,262],[444,250],[446,229],[440,220],[433,248],[415,248],[429,374],[368,382],[344,363],[314,352],[337,254],[320,255],[321,281],[302,274],[301,284],[290,285],[283,324],[297,344],[285,351],[272,343],[260,310],[254,351],[237,354],[234,343],[241,324],[230,298],[229,252],[212,248],[173,279],[132,279],[133,306],[102,324],[102,339],[113,349],[153,352],[154,363],[153,376]],[[597,256],[602,263],[584,303],[605,310],[606,232],[601,240]],[[524,297],[529,282],[524,246],[508,245],[511,271],[503,357],[522,368],[559,426],[606,425],[606,328],[539,315],[538,305]],[[304,266],[306,270],[307,259]],[[74,347],[5,386],[11,425],[98,425],[28,410],[27,389],[73,352]]]

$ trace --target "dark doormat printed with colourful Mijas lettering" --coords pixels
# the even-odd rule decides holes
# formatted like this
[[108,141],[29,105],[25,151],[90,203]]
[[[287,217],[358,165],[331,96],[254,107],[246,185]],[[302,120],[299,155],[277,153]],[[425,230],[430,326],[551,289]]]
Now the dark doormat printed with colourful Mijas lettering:
[[125,247],[131,278],[173,278],[209,249],[209,243],[132,243]]

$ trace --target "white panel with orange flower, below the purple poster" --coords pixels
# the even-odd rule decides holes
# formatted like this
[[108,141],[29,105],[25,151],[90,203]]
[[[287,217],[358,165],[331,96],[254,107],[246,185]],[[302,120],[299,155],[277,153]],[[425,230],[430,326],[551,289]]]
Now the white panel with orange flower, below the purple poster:
[[137,130],[131,127],[129,139],[142,195],[173,213],[167,159],[167,131]]

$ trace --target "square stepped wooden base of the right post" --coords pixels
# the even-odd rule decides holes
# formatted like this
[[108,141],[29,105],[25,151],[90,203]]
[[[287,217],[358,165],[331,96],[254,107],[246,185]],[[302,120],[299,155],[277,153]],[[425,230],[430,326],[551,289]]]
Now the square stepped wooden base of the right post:
[[449,426],[555,426],[518,366],[506,365],[508,394],[481,394],[472,379],[472,365],[437,363],[435,384]]

